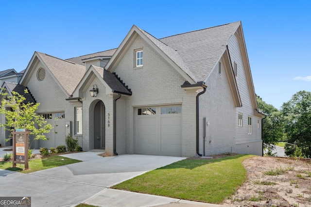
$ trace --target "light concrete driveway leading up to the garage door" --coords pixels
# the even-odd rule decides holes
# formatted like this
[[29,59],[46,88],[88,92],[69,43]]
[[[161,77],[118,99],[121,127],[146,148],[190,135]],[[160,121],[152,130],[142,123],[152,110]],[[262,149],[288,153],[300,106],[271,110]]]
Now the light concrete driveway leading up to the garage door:
[[32,207],[75,206],[90,198],[96,199],[101,192],[124,180],[185,159],[151,155],[101,157],[97,154],[64,155],[84,161],[30,174],[0,170],[0,196],[30,196]]

